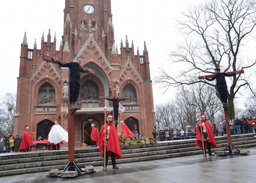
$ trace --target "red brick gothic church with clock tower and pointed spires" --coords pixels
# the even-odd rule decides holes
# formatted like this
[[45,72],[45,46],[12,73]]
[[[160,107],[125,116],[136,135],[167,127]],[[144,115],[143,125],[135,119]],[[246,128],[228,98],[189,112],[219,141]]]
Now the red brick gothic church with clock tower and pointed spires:
[[[106,111],[113,111],[112,101],[100,96],[129,97],[120,102],[125,111],[119,111],[119,121],[124,119],[130,130],[136,129],[142,136],[152,136],[156,117],[146,44],[140,54],[126,37],[118,48],[111,0],[65,0],[63,30],[58,44],[56,35],[52,36],[49,29],[39,43],[34,42],[33,48],[28,48],[25,32],[17,78],[14,134],[21,136],[24,126],[29,125],[33,139],[44,139],[56,118],[66,131],[68,129],[68,68],[44,61],[43,56],[47,55],[63,62],[83,56],[81,66],[95,71],[94,74],[81,73],[78,96],[81,110],[74,114],[75,146],[91,143],[91,123],[96,124],[98,131],[101,129],[104,106]],[[121,132],[120,124],[117,131]]]

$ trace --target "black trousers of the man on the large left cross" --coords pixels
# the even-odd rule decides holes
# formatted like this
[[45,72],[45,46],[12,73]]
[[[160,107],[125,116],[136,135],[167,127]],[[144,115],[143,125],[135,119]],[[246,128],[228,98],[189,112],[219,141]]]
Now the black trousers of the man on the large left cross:
[[77,101],[80,91],[81,81],[80,79],[70,78],[69,79],[69,103],[75,103]]

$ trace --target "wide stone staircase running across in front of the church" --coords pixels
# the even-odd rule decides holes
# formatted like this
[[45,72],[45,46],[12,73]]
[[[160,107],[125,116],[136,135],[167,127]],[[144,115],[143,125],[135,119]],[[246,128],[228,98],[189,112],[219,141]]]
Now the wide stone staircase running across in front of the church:
[[[231,135],[232,145],[239,149],[256,147],[255,134]],[[212,151],[223,151],[227,147],[226,137],[216,137],[217,148]],[[153,159],[164,159],[188,155],[202,154],[195,145],[195,139],[173,140],[139,146],[122,147],[123,158],[117,159],[117,164]],[[26,153],[0,154],[0,177],[14,174],[64,170],[68,163],[68,151],[36,151]],[[88,165],[101,166],[103,158],[98,148],[75,148],[75,163],[84,168]],[[110,162],[109,162],[110,163]]]

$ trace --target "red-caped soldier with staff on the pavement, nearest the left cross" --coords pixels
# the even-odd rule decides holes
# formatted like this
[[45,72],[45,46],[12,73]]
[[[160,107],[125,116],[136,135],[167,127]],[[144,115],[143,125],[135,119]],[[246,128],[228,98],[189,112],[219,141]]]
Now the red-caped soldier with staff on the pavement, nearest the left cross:
[[122,158],[122,152],[121,152],[121,147],[120,147],[120,143],[117,135],[117,130],[115,125],[113,124],[113,116],[110,114],[110,112],[107,112],[106,115],[107,115],[107,123],[102,126],[98,134],[99,151],[101,156],[104,157],[104,140],[105,140],[105,133],[106,133],[106,156],[105,156],[106,166],[108,162],[108,157],[111,157],[113,169],[119,169],[116,166],[116,158]]

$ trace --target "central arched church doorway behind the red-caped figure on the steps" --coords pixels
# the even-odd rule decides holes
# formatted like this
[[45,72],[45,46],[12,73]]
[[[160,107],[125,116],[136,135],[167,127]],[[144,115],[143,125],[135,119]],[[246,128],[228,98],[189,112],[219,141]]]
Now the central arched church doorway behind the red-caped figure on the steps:
[[97,133],[99,132],[99,121],[94,119],[94,118],[88,118],[85,121],[82,122],[82,143],[86,143],[88,145],[92,144],[91,141],[91,132],[92,132],[92,127],[91,123],[96,124],[97,128]]

